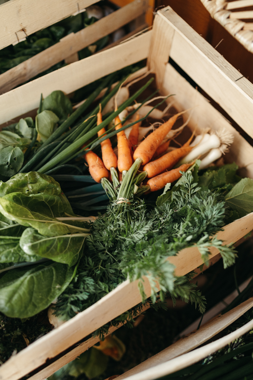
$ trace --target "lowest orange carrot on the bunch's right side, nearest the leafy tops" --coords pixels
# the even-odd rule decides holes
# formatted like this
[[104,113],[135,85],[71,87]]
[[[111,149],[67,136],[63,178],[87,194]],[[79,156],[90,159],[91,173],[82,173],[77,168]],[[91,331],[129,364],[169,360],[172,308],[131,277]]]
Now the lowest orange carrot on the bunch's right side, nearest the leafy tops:
[[182,174],[179,172],[186,172],[186,170],[189,169],[189,167],[192,164],[193,162],[191,162],[190,164],[183,164],[179,166],[179,168],[172,169],[169,172],[159,174],[159,176],[153,177],[150,180],[148,180],[147,185],[150,187],[151,191],[163,189],[166,184],[178,180],[182,176]]

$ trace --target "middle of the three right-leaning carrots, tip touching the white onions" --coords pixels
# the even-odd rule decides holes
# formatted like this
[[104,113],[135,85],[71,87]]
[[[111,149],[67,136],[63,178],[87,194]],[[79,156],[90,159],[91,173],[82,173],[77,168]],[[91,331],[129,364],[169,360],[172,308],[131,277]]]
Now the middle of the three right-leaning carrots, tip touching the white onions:
[[180,158],[189,153],[192,150],[192,146],[189,146],[189,144],[192,141],[193,136],[194,133],[192,134],[191,138],[183,146],[181,146],[181,148],[171,150],[157,160],[146,164],[143,167],[143,171],[146,171],[148,173],[147,177],[152,178],[162,173],[166,169],[171,169],[180,160]]

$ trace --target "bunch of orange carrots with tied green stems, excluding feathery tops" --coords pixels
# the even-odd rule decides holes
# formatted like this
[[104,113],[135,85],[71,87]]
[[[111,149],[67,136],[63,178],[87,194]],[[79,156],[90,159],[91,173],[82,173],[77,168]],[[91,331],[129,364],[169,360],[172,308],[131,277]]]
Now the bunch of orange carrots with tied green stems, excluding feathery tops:
[[[118,200],[117,203],[128,202],[129,197],[134,193],[140,194],[160,190],[167,183],[172,183],[179,179],[182,172],[188,170],[193,162],[182,164],[176,169],[172,168],[191,151],[190,143],[194,134],[183,146],[168,153],[165,152],[169,146],[169,141],[162,142],[178,116],[182,113],[179,112],[170,117],[167,122],[154,130],[139,145],[138,136],[141,122],[137,120],[138,115],[128,139],[125,131],[122,130],[120,117],[116,116],[115,129],[119,131],[117,133],[118,157],[114,152],[110,139],[101,142],[102,159],[92,150],[88,150],[84,154],[84,158],[92,178],[101,183],[106,192]],[[102,114],[100,110],[97,113],[97,126],[101,123]],[[101,136],[106,136],[104,128],[101,128],[98,132],[98,137]],[[137,174],[137,172],[139,173]],[[143,186],[143,181],[146,177],[148,181]]]

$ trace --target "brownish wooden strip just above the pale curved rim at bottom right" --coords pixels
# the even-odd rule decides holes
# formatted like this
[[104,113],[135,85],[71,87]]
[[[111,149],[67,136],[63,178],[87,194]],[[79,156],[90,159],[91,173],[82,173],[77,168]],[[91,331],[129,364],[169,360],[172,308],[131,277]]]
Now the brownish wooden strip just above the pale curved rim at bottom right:
[[219,315],[215,319],[206,323],[198,331],[191,333],[188,336],[185,336],[184,338],[178,340],[174,344],[171,344],[169,347],[165,348],[158,354],[152,356],[151,358],[145,360],[138,366],[125,372],[117,379],[127,379],[132,375],[139,374],[141,371],[145,371],[149,368],[157,366],[158,364],[165,363],[168,360],[176,358],[179,355],[183,355],[186,352],[189,352],[199,347],[200,345],[211,339],[213,336],[224,330],[226,327],[230,326],[233,322],[235,322],[252,307],[253,298],[251,297],[247,301],[241,303],[241,305],[238,305],[234,309],[228,311],[226,314],[221,316]]

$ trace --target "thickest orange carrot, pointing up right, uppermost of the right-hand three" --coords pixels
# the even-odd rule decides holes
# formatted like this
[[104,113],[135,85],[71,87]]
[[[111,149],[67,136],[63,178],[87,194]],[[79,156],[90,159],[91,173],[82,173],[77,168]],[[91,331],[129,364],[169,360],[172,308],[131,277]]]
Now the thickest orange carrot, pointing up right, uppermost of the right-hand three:
[[150,135],[143,140],[139,146],[137,146],[135,152],[133,153],[133,158],[136,160],[140,158],[143,162],[143,165],[147,164],[153,157],[158,146],[164,140],[165,136],[169,133],[173,127],[176,119],[179,115],[182,115],[186,111],[182,111],[172,116],[166,123],[160,125],[159,128],[155,129]]

